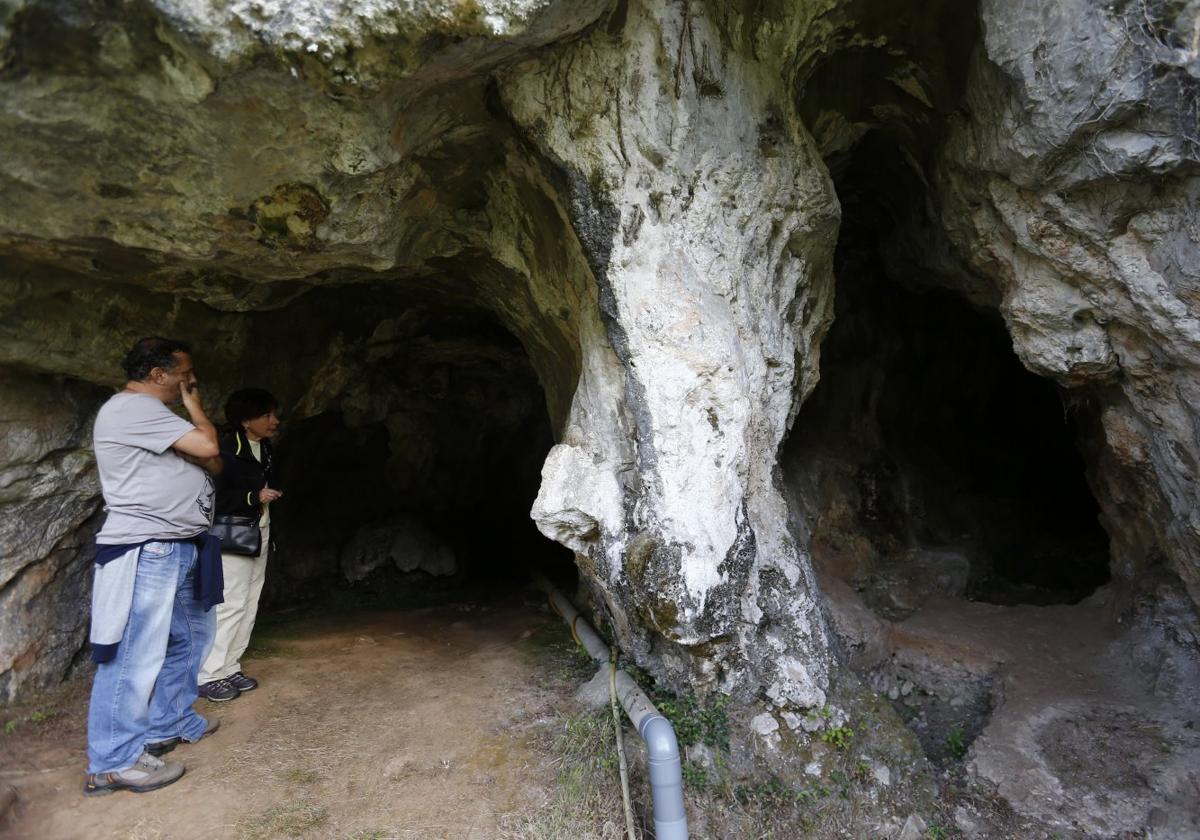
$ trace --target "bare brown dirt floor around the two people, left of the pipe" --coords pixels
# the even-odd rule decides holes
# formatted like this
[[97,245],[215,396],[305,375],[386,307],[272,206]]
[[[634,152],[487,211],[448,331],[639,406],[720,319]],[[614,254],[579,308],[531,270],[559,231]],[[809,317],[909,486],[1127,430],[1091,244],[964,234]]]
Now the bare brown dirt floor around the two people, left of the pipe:
[[559,631],[521,596],[275,624],[245,660],[260,686],[199,701],[220,732],[172,752],[186,775],[144,794],[82,794],[76,680],[0,736],[0,788],[18,797],[0,836],[504,836],[553,796],[535,730],[574,685],[528,642]]

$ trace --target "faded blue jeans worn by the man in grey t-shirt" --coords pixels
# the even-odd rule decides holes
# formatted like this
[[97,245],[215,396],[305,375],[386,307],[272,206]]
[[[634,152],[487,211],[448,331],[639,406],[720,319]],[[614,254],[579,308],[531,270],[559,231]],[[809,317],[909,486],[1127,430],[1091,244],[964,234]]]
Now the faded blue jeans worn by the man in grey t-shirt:
[[96,667],[88,709],[88,772],[131,767],[149,742],[199,740],[208,721],[192,709],[216,611],[193,594],[196,545],[146,542],[116,656]]

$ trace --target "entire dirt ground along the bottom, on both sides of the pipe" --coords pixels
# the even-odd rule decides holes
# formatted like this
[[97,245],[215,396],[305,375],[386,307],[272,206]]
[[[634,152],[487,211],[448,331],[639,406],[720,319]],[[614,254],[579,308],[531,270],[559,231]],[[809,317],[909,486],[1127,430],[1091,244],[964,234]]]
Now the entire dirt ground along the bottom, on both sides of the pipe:
[[[0,797],[16,790],[17,802],[5,812],[0,798],[0,838],[622,840],[611,716],[574,698],[595,666],[540,595],[452,590],[406,608],[378,604],[335,599],[262,620],[245,659],[260,688],[199,702],[221,730],[170,754],[187,774],[161,791],[82,794],[86,676],[5,708]],[[713,767],[689,750],[692,836],[1141,836],[1121,826],[1147,821],[1154,838],[1198,836],[1194,799],[1181,799],[1200,756],[1194,704],[1147,703],[1138,674],[1114,655],[1118,637],[1097,631],[1099,608],[947,601],[890,629],[896,662],[930,673],[977,666],[1001,683],[1003,702],[976,743],[935,768],[932,802],[912,796],[905,778],[920,767],[893,762],[890,742],[871,736],[892,733],[889,718],[857,697],[847,743],[820,738],[832,763],[802,787],[737,778],[721,749],[710,751]],[[922,708],[936,698],[924,696]],[[877,700],[887,706],[886,692]],[[686,698],[673,706],[696,738],[701,725],[746,725],[713,708],[679,712]],[[944,721],[931,720],[944,742]],[[625,748],[635,822],[649,836],[646,756],[628,727]],[[971,764],[998,774],[1010,800],[1070,803],[1115,830],[1014,814],[968,778]],[[1044,790],[1052,785],[1057,793]],[[908,830],[918,817],[924,827]]]

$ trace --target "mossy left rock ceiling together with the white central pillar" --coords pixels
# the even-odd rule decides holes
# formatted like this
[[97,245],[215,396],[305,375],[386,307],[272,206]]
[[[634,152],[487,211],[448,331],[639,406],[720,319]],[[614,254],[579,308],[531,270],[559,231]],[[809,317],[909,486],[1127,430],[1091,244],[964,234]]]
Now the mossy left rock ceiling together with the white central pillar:
[[314,287],[467,295],[562,442],[535,516],[631,648],[820,704],[773,486],[838,218],[780,84],[810,20],[659,6],[6,5],[5,360],[115,384],[131,338],[176,332],[211,398],[248,376],[353,426],[378,419],[355,377],[385,319],[326,311],[280,354],[270,313]]

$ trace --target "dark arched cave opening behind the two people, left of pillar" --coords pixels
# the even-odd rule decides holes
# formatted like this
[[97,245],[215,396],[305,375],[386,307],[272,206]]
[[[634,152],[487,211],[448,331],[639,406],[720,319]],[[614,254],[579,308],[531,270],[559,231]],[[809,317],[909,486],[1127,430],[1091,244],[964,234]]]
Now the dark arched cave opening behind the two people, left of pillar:
[[[263,323],[311,324],[284,406],[269,600],[355,589],[388,606],[430,587],[500,594],[533,568],[574,576],[529,518],[553,445],[522,343],[469,294],[420,281],[314,289]],[[330,348],[338,348],[331,352]],[[322,354],[328,359],[322,360]],[[307,383],[295,379],[316,371]]]

